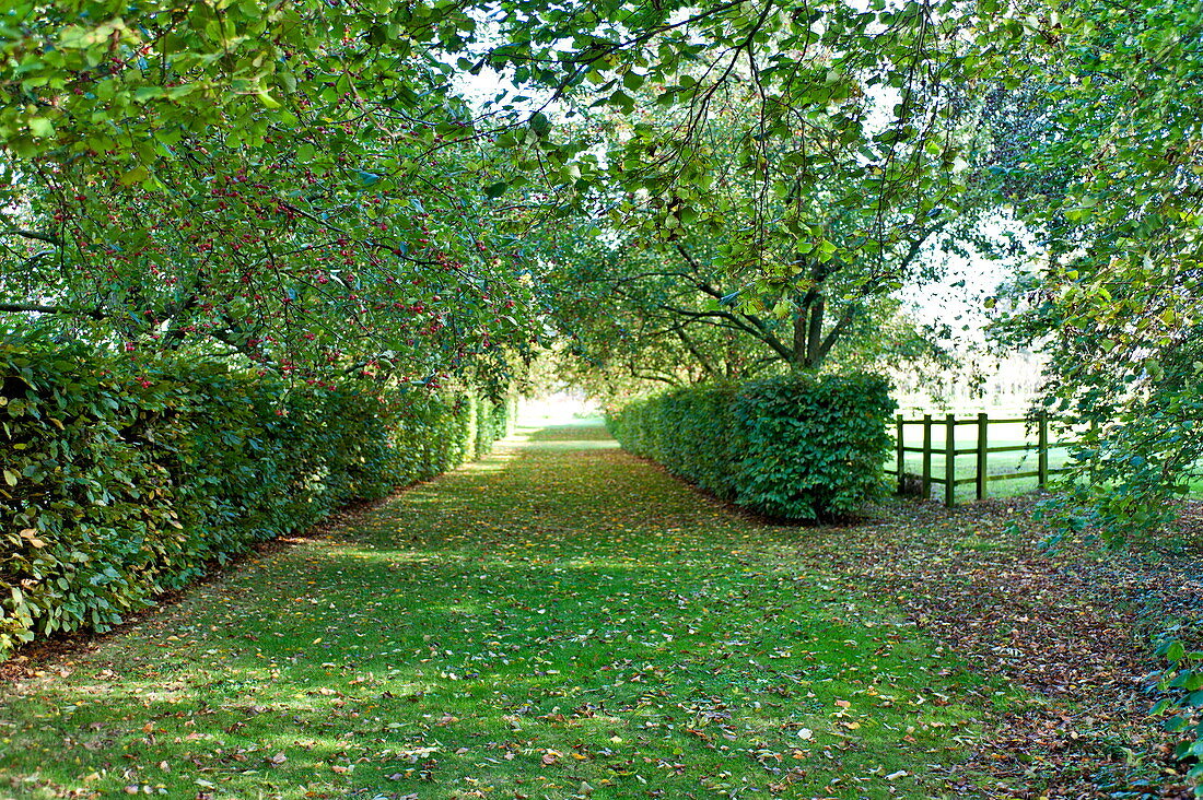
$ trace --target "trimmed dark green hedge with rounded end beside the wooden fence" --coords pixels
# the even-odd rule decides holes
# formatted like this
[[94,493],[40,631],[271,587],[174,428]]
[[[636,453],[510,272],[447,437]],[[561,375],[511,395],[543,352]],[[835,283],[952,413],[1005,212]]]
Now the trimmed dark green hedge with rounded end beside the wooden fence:
[[606,415],[628,451],[786,520],[855,514],[883,486],[896,405],[877,375],[783,375],[694,386]]

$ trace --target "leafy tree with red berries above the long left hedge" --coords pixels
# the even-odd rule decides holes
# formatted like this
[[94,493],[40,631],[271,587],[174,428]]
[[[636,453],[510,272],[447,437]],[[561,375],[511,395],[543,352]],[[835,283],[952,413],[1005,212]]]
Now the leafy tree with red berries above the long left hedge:
[[[0,312],[131,351],[429,377],[527,342],[467,4],[30,2],[0,26]],[[41,320],[35,322],[35,318]]]

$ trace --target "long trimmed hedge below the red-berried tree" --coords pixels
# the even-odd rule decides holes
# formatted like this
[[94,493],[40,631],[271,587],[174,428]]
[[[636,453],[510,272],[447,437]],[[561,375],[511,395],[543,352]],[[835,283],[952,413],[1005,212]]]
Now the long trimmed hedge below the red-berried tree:
[[298,390],[196,363],[118,378],[128,366],[0,343],[0,654],[105,630],[214,561],[505,431],[504,403],[468,395]]

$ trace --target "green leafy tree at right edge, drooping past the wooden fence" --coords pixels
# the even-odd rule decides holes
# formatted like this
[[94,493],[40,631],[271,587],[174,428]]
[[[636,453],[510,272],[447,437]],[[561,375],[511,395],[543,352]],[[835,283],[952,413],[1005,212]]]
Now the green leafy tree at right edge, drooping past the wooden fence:
[[1050,355],[1045,402],[1086,429],[1071,499],[1121,541],[1172,515],[1165,500],[1203,457],[1203,113],[1183,101],[1203,90],[1203,12],[1055,11],[991,30],[996,47],[1032,54],[1005,79],[1041,87],[1029,103],[1041,135],[1012,167],[1035,189],[1012,201],[1043,256],[998,330]]

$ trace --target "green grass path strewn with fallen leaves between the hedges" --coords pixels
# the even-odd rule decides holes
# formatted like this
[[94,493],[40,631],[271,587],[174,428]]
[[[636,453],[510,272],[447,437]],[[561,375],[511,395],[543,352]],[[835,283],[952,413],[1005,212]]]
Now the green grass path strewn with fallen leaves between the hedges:
[[813,535],[535,432],[8,692],[0,795],[946,796],[1014,698]]

